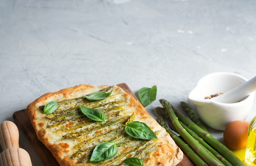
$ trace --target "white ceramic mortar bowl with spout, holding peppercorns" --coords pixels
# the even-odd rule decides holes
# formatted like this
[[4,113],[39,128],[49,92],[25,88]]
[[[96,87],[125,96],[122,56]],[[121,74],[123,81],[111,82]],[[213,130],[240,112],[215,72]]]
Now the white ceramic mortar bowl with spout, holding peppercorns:
[[189,93],[188,99],[197,106],[202,121],[216,130],[224,130],[230,122],[245,120],[252,109],[254,92],[237,103],[220,103],[204,99],[211,94],[225,93],[248,81],[230,72],[216,72],[203,76]]

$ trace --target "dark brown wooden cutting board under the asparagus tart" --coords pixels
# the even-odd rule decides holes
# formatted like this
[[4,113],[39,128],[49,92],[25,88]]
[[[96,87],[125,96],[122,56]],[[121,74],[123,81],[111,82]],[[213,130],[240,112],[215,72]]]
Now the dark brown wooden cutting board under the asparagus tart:
[[[132,93],[128,85],[126,85],[125,83],[121,83],[118,84],[118,86],[136,98],[136,96]],[[58,162],[56,162],[56,159],[53,157],[52,153],[47,149],[47,147],[38,140],[36,132],[30,124],[30,119],[26,114],[26,109],[14,112],[13,119],[16,121],[20,129],[22,129],[22,131],[25,133],[25,135],[27,135],[27,138],[34,146],[38,155],[42,158],[45,165],[60,166]],[[186,155],[184,155],[182,161],[177,166],[194,166],[194,164],[188,157],[186,157]]]

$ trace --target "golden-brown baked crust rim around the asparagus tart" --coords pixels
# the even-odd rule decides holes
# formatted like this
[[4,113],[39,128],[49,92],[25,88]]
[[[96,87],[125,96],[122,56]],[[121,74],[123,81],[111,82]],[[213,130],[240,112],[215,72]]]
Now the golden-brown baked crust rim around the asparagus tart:
[[[78,98],[92,92],[99,91],[103,88],[108,87],[108,85],[94,87],[92,85],[77,85],[74,87],[65,88],[58,92],[47,93],[40,96],[33,103],[27,107],[27,115],[31,120],[31,124],[34,127],[38,139],[47,146],[52,155],[56,158],[57,162],[61,166],[93,166],[92,164],[79,164],[79,162],[73,160],[68,155],[70,152],[70,143],[68,142],[54,142],[47,133],[46,124],[38,120],[38,108],[41,105],[45,105],[49,101],[56,100],[66,100],[72,98]],[[144,107],[130,94],[124,92],[120,87],[115,87],[116,94],[122,94],[126,98],[126,102],[129,103],[129,107],[133,108],[135,111],[135,117],[137,121],[146,123],[154,132],[161,131],[155,139],[157,145],[153,152],[149,152],[147,156],[144,156],[145,166],[175,166],[183,158],[183,153],[180,148],[175,144],[170,135],[163,129],[157,121],[152,118]],[[95,133],[96,134],[96,133]],[[100,133],[98,133],[100,134]],[[58,136],[57,136],[58,137]],[[56,136],[55,136],[56,138]],[[80,141],[79,139],[77,141]],[[125,151],[125,150],[124,150]]]

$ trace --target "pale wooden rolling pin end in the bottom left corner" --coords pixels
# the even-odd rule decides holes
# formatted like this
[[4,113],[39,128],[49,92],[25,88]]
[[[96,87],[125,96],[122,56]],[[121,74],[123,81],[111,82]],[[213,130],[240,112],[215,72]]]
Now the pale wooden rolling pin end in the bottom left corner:
[[19,148],[19,131],[15,123],[4,121],[0,124],[0,166],[32,166],[29,153]]

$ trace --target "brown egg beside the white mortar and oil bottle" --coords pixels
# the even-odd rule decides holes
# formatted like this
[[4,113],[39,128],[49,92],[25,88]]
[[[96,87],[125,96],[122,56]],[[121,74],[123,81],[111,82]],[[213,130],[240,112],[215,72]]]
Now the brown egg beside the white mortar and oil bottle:
[[236,120],[227,125],[223,133],[225,144],[234,150],[243,149],[247,143],[249,122]]

